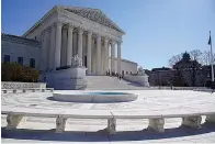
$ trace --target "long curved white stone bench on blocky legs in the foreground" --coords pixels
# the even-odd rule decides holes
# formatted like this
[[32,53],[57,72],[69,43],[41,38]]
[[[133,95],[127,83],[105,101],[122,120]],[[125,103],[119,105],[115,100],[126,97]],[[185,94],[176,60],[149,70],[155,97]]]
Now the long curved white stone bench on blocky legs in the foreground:
[[[201,129],[201,115],[206,115],[206,122],[215,122],[215,111],[208,109],[207,111],[188,111],[179,110],[177,113],[171,110],[166,111],[106,111],[106,110],[48,110],[39,111],[35,108],[9,108],[2,106],[2,114],[7,114],[7,130],[16,129],[23,117],[45,117],[56,118],[56,132],[65,131],[66,121],[68,119],[106,119],[108,128],[104,129],[109,134],[116,133],[116,119],[148,119],[148,129],[156,132],[165,132],[165,119],[182,118],[182,125]],[[60,113],[60,114],[59,114]]]

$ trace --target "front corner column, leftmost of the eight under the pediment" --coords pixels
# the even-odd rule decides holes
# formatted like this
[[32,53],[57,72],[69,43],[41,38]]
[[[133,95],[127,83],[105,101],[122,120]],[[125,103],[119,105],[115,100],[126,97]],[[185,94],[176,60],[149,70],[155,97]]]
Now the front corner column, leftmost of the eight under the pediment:
[[55,47],[55,68],[60,67],[61,27],[63,27],[63,23],[57,22],[56,47]]

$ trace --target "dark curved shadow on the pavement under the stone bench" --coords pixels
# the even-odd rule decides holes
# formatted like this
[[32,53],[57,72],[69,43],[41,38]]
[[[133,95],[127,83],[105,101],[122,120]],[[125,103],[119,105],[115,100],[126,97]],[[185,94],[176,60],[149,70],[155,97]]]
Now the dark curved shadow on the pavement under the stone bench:
[[192,136],[204,133],[215,132],[215,124],[204,123],[202,129],[174,128],[166,129],[163,133],[157,133],[150,130],[143,131],[123,131],[114,135],[109,135],[102,131],[83,132],[66,131],[55,133],[55,130],[5,130],[1,128],[2,139],[16,140],[36,140],[36,141],[65,141],[65,142],[108,142],[108,141],[144,141],[144,140],[162,140],[182,136]]

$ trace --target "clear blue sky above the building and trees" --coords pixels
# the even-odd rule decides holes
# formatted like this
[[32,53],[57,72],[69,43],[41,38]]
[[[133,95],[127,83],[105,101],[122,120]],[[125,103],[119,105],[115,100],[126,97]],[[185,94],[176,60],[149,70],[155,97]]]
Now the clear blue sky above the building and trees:
[[56,4],[101,9],[126,32],[122,57],[144,68],[208,49],[208,31],[215,45],[215,0],[2,0],[2,32],[22,35]]

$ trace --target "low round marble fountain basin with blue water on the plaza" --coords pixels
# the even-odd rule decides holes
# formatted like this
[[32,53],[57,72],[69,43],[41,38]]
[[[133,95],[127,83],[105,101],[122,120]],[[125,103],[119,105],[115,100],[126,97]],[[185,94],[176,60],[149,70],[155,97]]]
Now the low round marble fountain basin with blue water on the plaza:
[[57,101],[91,103],[128,102],[136,100],[137,97],[137,95],[128,92],[60,92],[53,95],[54,100]]

